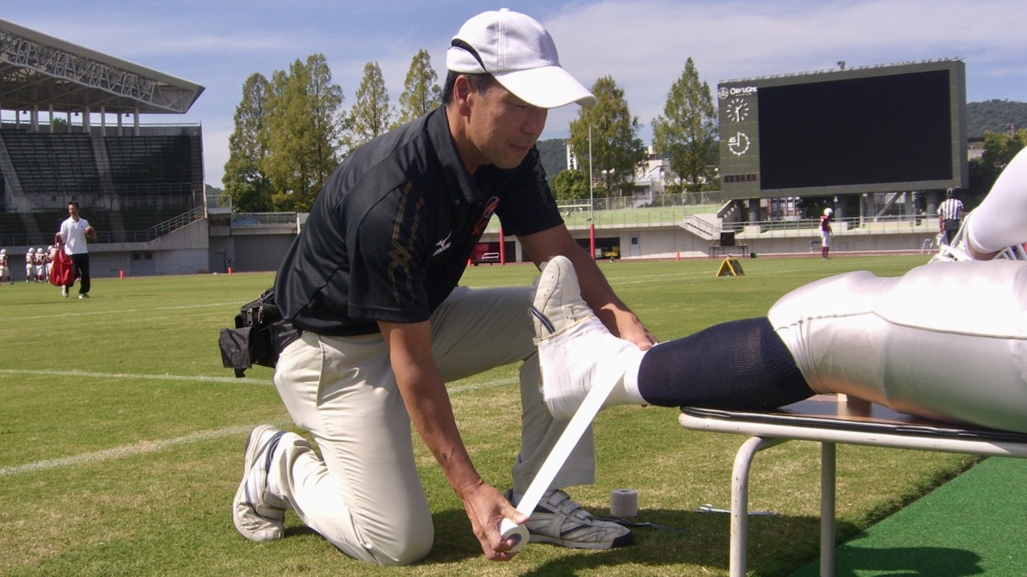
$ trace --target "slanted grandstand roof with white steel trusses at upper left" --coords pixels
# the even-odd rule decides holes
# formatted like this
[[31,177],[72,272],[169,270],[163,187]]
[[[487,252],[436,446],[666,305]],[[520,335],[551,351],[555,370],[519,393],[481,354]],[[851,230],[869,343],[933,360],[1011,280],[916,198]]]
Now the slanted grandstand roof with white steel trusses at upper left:
[[184,114],[203,86],[0,20],[0,108]]

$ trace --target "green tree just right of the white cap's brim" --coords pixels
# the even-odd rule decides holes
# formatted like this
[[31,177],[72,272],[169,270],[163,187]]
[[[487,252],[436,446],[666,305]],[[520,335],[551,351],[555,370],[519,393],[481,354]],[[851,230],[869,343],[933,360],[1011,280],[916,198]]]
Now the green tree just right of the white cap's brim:
[[581,108],[578,117],[571,121],[571,150],[586,170],[592,151],[592,178],[600,183],[596,189],[598,196],[630,193],[635,170],[646,158],[645,145],[638,138],[639,119],[631,115],[624,90],[612,77],[597,80],[592,92],[599,102],[592,108]]

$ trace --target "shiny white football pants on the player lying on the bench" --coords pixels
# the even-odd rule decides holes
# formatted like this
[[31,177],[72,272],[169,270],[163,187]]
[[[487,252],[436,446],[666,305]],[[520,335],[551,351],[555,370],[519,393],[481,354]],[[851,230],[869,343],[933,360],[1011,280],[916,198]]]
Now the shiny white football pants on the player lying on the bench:
[[842,274],[789,293],[767,316],[816,392],[1027,432],[1027,262]]

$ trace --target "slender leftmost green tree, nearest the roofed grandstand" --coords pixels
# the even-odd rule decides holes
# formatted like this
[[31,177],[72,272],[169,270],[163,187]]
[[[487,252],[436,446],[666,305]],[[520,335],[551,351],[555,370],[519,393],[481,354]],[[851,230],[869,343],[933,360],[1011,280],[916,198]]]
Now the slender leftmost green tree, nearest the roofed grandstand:
[[260,169],[267,156],[264,115],[270,98],[267,78],[254,73],[242,84],[242,101],[235,107],[235,129],[228,137],[228,160],[222,184],[240,213],[263,213],[271,208],[271,182]]

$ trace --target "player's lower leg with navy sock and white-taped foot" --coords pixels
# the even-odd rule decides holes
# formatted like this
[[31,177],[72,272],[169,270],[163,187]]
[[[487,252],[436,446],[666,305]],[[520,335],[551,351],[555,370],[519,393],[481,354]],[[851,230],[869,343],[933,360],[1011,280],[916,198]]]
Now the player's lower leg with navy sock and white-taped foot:
[[542,272],[533,319],[544,398],[556,415],[573,415],[600,379],[616,381],[604,406],[759,410],[812,394],[766,318],[718,324],[641,351],[592,313],[569,261],[554,259]]

